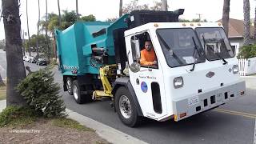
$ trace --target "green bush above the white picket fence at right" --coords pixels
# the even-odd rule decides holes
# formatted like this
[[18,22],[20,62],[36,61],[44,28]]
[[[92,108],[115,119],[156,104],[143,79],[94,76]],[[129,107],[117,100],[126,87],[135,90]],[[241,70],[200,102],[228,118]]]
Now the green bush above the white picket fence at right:
[[256,57],[256,45],[242,46],[239,50],[238,58],[254,58]]

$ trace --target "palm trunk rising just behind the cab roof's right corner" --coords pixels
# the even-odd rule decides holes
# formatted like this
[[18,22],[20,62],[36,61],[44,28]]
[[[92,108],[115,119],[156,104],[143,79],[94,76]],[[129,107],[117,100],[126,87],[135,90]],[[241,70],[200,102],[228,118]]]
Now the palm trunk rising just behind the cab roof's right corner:
[[222,10],[222,25],[224,27],[226,36],[229,35],[229,21],[230,21],[230,0],[224,0]]

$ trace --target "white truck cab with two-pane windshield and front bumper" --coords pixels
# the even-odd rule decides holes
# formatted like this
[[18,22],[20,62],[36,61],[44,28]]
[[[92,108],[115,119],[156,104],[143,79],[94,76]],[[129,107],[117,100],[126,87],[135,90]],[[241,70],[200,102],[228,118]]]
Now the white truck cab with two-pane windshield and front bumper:
[[[125,32],[129,78],[144,117],[179,121],[245,94],[221,23],[150,22]],[[140,66],[150,40],[157,65]]]

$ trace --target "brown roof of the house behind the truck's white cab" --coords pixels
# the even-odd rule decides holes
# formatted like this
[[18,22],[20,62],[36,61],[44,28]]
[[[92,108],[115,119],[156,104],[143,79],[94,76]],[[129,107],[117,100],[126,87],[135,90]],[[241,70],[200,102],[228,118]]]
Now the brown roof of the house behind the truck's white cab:
[[[222,19],[217,22],[222,22]],[[229,21],[229,38],[242,38],[244,31],[244,24],[242,20],[230,18]],[[250,26],[250,36],[254,35],[254,26]]]

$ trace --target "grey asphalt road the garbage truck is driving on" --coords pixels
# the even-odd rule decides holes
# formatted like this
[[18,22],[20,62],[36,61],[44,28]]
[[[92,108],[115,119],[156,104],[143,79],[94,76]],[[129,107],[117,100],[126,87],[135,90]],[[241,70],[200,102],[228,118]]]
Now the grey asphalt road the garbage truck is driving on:
[[[2,62],[0,64],[2,65]],[[30,66],[31,70],[38,70],[38,67],[44,68],[44,66],[36,66],[28,62],[25,62],[25,65]],[[54,72],[55,81],[62,86],[62,75],[57,68],[54,69]],[[256,90],[247,90],[246,96],[228,102],[217,110],[210,110],[180,122],[174,122],[173,120],[156,122],[146,119],[142,126],[138,128],[123,125],[119,121],[118,115],[114,113],[113,108],[110,107],[109,101],[78,105],[74,102],[74,98],[66,92],[61,91],[60,94],[62,94],[68,109],[145,142],[158,144],[254,143]]]

